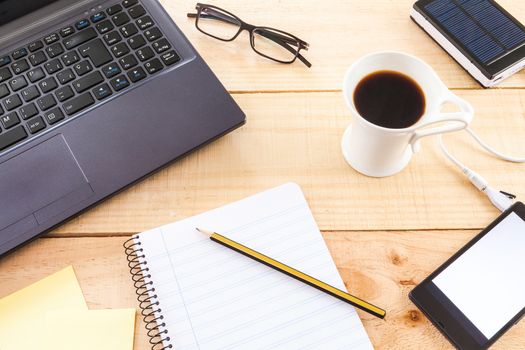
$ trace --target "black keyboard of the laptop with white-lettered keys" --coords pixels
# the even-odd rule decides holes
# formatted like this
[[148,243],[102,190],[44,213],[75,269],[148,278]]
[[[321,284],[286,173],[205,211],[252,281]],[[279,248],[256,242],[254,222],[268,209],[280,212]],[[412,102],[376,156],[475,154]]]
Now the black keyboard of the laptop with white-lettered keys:
[[138,0],[0,56],[0,151],[179,60]]

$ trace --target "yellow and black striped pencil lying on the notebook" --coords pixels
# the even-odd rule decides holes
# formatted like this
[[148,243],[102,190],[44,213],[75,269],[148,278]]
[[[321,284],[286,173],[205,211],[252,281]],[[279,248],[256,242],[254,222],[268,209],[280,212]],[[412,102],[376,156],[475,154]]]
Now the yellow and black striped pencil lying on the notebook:
[[246,255],[249,258],[252,258],[253,260],[256,260],[260,263],[263,263],[277,271],[280,271],[290,277],[293,277],[303,283],[306,283],[314,288],[319,289],[322,292],[325,292],[327,294],[330,294],[331,296],[334,296],[342,301],[345,301],[349,304],[352,304],[353,306],[368,312],[371,315],[374,315],[379,318],[385,318],[386,311],[372,305],[362,299],[359,299],[351,294],[348,294],[347,292],[343,292],[340,289],[337,289],[335,287],[332,287],[329,284],[326,284],[322,281],[319,281],[316,278],[313,278],[312,276],[309,276],[301,271],[298,271],[290,266],[287,266],[283,263],[280,263],[264,254],[258,253],[253,249],[250,249],[240,243],[237,243],[235,241],[232,241],[231,239],[224,237],[216,232],[203,230],[200,228],[197,228],[197,231],[207,235],[212,241],[217,242],[219,244],[222,244],[225,247],[228,247],[232,250],[235,250],[238,253],[241,253],[243,255]]

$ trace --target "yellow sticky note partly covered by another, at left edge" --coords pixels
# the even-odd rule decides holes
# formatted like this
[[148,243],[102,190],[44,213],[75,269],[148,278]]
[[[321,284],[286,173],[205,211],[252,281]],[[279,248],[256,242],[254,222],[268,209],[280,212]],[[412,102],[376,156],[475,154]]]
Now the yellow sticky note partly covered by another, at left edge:
[[71,266],[0,299],[0,349],[40,349],[46,312],[87,310]]

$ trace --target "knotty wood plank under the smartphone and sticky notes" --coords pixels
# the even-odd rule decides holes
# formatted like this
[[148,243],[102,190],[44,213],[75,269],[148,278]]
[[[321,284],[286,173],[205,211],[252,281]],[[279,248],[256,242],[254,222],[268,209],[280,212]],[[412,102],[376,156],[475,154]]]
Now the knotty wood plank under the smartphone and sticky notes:
[[[347,288],[388,311],[385,321],[360,312],[377,349],[449,349],[408,300],[408,292],[474,231],[326,232]],[[91,309],[137,307],[122,250],[126,237],[42,238],[0,260],[0,297],[72,264]],[[135,349],[149,349],[137,317]],[[525,323],[494,349],[522,349]]]

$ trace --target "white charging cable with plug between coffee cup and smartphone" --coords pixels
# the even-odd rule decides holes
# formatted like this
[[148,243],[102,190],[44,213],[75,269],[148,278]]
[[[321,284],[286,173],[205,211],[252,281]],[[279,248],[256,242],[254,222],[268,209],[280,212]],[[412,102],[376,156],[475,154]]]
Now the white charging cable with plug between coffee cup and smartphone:
[[[487,152],[494,155],[497,158],[514,162],[514,163],[524,163],[525,159],[521,158],[515,158],[515,157],[509,157],[506,156],[496,150],[494,150],[492,147],[488,146],[485,142],[483,142],[476,133],[470,128],[466,129],[478,144],[483,147]],[[454,163],[458,168],[461,169],[461,172],[467,176],[469,181],[481,192],[483,192],[489,200],[492,202],[492,204],[498,208],[500,211],[507,210],[510,206],[513,204],[513,199],[511,196],[502,193],[500,191],[495,190],[491,186],[489,186],[489,183],[487,180],[485,180],[481,175],[476,173],[475,171],[469,169],[467,166],[465,166],[463,163],[461,163],[456,157],[454,157],[446,148],[445,143],[443,142],[443,136],[438,135],[438,141],[439,146],[441,147],[441,150],[443,151],[443,154],[452,162]]]

